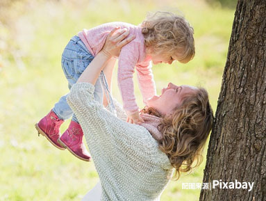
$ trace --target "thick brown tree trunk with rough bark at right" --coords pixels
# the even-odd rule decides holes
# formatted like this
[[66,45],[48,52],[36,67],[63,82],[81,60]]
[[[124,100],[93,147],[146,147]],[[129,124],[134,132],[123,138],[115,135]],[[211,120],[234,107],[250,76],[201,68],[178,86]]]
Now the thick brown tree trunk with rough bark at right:
[[[235,179],[252,190],[213,188]],[[203,183],[200,201],[266,200],[265,0],[238,1]]]

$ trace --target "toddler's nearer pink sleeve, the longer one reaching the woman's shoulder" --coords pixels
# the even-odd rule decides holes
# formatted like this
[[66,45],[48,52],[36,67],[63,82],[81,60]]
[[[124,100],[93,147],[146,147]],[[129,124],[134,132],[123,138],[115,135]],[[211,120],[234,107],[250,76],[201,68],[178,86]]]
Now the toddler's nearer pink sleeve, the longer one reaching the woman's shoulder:
[[118,61],[117,83],[122,95],[123,108],[129,114],[138,111],[133,85],[133,73],[138,58],[138,42],[130,42],[122,47]]

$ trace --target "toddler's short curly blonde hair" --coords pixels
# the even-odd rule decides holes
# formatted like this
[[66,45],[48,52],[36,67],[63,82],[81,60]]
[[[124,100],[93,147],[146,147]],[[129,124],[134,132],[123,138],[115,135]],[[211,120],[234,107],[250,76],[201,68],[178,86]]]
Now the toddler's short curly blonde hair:
[[194,30],[184,17],[158,11],[142,22],[146,47],[153,53],[176,56],[181,63],[188,63],[195,54]]

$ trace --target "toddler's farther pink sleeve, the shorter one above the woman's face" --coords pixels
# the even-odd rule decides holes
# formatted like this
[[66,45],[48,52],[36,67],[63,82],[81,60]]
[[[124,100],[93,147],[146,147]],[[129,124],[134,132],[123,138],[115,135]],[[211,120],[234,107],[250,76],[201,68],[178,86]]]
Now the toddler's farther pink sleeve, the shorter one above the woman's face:
[[147,65],[137,65],[138,83],[142,93],[143,102],[147,105],[147,99],[156,95],[156,85],[151,71],[151,62]]

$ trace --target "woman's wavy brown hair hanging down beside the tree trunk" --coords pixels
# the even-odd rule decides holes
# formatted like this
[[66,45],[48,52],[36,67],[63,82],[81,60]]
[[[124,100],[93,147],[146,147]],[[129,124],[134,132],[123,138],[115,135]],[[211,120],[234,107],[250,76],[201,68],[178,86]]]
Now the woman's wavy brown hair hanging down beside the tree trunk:
[[[158,141],[159,148],[175,168],[176,180],[180,172],[189,172],[201,164],[203,146],[213,125],[213,110],[204,88],[183,97],[181,106],[177,106],[172,115],[162,116],[151,107],[142,112],[163,118],[158,125],[163,133],[163,140]],[[197,163],[192,167],[194,161]]]

